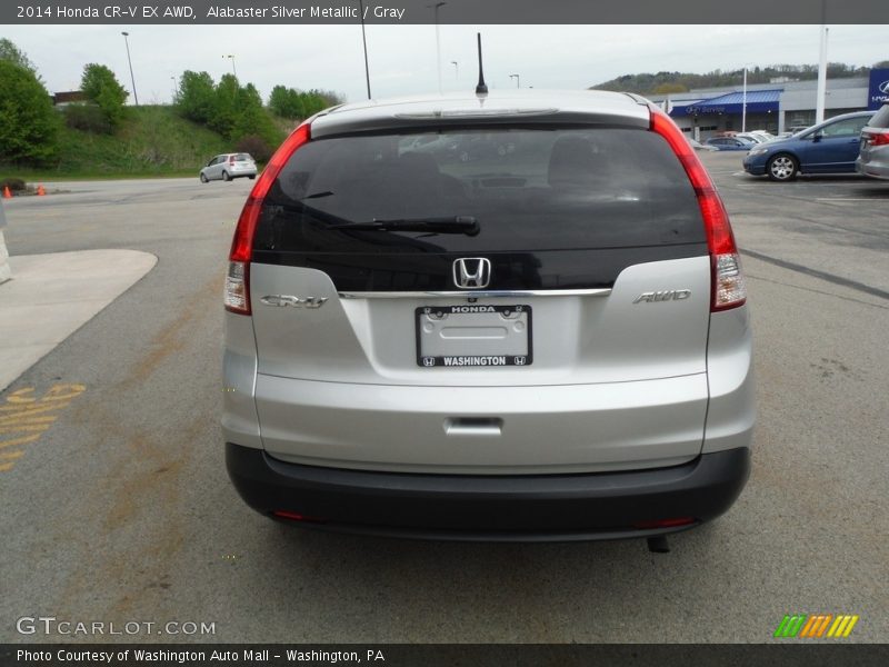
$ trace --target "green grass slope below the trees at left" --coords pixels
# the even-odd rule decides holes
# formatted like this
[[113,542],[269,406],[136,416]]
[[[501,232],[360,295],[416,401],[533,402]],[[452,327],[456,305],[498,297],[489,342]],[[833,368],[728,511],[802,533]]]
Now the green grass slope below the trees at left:
[[196,176],[214,155],[234,150],[216,132],[177,116],[171,107],[131,107],[129,118],[113,136],[64,127],[60,146],[56,166],[0,165],[0,180]]

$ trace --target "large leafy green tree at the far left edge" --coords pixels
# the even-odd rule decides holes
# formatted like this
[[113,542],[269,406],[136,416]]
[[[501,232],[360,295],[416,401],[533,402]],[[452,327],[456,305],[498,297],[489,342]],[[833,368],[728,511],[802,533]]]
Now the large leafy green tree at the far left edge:
[[59,118],[37,74],[0,59],[0,161],[44,163],[59,149]]

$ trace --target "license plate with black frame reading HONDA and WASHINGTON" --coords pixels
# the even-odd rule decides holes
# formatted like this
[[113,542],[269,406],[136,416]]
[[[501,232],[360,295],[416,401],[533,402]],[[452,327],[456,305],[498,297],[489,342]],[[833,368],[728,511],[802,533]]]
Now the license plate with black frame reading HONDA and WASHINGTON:
[[[533,364],[532,310],[527,303],[420,306],[414,309],[413,327],[420,368],[521,368]],[[472,341],[477,350],[467,349]]]

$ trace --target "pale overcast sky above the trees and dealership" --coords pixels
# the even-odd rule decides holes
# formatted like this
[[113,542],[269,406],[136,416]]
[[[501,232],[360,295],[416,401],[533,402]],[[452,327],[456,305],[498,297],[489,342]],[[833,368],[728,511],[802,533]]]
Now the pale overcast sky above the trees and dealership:
[[[184,70],[231,72],[263,99],[276,84],[366,97],[360,26],[0,26],[37,64],[51,92],[77,90],[83,66],[110,67],[130,90],[121,30],[130,33],[141,103],[170,101]],[[480,30],[489,87],[582,89],[620,74],[817,64],[818,26],[440,26],[442,89],[471,90]],[[373,97],[434,92],[433,26],[368,26]],[[828,59],[871,66],[889,59],[886,26],[831,26]],[[452,61],[458,64],[455,67]]]

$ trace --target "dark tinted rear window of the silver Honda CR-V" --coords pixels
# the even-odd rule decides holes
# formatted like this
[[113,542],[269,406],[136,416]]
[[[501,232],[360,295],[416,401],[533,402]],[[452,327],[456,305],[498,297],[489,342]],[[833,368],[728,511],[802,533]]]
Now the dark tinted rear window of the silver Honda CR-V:
[[[392,219],[478,220],[477,236],[332,230]],[[356,243],[356,241],[360,241]],[[278,252],[510,251],[705,241],[667,142],[641,129],[498,129],[319,139],[264,200],[254,247]]]

